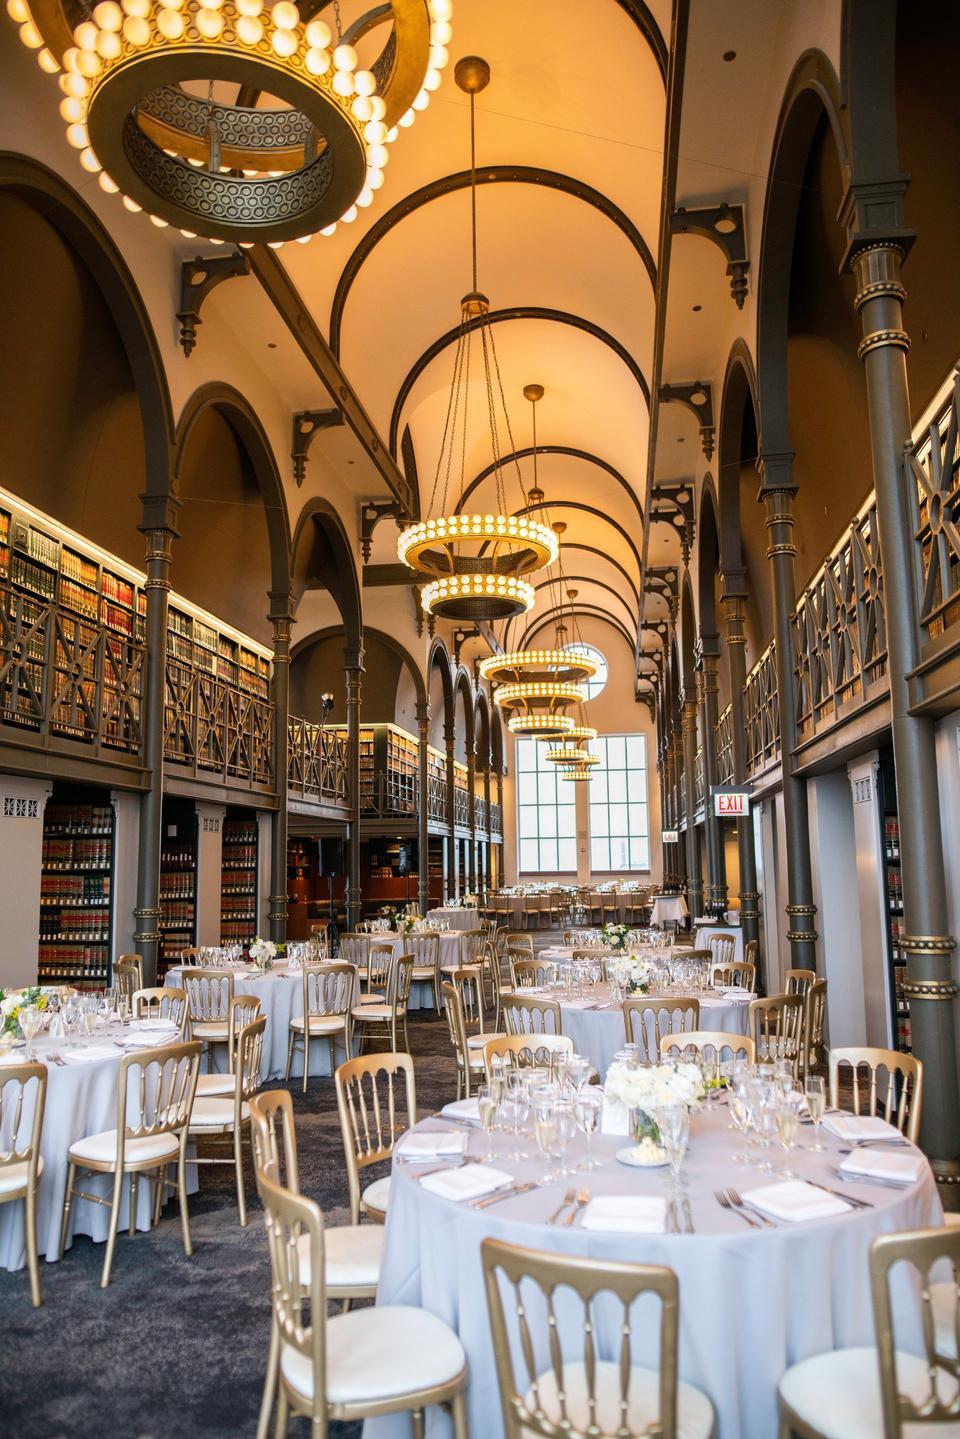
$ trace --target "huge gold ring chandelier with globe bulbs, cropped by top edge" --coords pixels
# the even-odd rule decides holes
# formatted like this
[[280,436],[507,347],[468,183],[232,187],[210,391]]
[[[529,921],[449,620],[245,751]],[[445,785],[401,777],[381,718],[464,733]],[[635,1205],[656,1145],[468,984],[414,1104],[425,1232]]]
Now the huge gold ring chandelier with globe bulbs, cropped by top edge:
[[[309,239],[371,204],[452,37],[452,0],[390,0],[345,35],[304,22],[292,0],[7,0],[7,12],[58,75],[83,170],[158,226],[240,245]],[[357,43],[386,20],[387,43],[361,68]]]

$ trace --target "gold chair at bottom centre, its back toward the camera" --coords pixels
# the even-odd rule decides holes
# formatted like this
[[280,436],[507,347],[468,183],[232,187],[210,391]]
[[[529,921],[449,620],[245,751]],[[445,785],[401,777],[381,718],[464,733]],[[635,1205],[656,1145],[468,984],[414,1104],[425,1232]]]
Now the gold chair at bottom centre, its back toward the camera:
[[[672,1269],[499,1239],[484,1239],[481,1259],[505,1439],[712,1439],[714,1406],[676,1374]],[[645,1368],[632,1363],[633,1337],[646,1338],[656,1315],[659,1368]]]

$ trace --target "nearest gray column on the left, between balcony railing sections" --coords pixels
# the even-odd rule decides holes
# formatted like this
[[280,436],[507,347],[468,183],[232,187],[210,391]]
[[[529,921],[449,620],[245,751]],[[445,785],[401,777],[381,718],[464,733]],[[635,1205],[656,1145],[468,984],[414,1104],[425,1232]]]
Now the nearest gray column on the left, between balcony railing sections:
[[170,600],[170,564],[177,501],[170,496],[142,496],[147,535],[145,642],[147,673],[141,698],[144,767],[150,789],[140,799],[140,858],[137,868],[137,908],[134,944],[144,960],[144,984],[157,983],[160,950],[160,842],[163,833],[163,741],[164,691],[167,684],[167,607]]

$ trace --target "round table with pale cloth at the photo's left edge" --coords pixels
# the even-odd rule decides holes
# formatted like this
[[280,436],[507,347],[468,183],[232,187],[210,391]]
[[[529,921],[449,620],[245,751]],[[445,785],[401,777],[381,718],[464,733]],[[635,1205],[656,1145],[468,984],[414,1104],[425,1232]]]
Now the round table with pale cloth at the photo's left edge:
[[[132,1026],[131,1026],[132,1027]],[[115,1026],[108,1030],[98,1030],[92,1039],[78,1038],[71,1048],[65,1039],[36,1039],[33,1042],[35,1059],[46,1063],[46,1108],[43,1111],[43,1128],[40,1131],[40,1157],[43,1173],[37,1186],[36,1233],[37,1253],[47,1259],[59,1259],[60,1216],[63,1213],[63,1194],[66,1191],[66,1151],[71,1144],[86,1138],[88,1134],[99,1134],[104,1130],[117,1127],[117,1085],[119,1081],[119,1061],[124,1049],[114,1043],[115,1036],[124,1030]],[[127,1030],[130,1033],[130,1029]],[[148,1053],[148,1049],[138,1049],[137,1053]],[[55,1063],[49,1056],[59,1053],[62,1065]],[[78,1055],[94,1058],[78,1058]],[[0,1063],[23,1063],[24,1050],[16,1049],[7,1053]],[[27,1091],[32,1094],[33,1086]],[[27,1120],[27,1105],[24,1104],[24,1121]],[[131,1115],[132,1117],[132,1115]],[[6,1137],[0,1135],[0,1138]],[[0,1145],[3,1147],[3,1145]],[[193,1193],[197,1189],[197,1170],[187,1171],[187,1189]],[[94,1194],[109,1196],[112,1176],[85,1174],[82,1187]],[[141,1184],[137,1196],[137,1227],[150,1229],[153,1210],[153,1184]],[[173,1200],[176,1207],[176,1197]],[[130,1184],[124,1184],[119,1229],[130,1227]],[[75,1199],[71,1212],[71,1236],[89,1235],[91,1239],[104,1242],[109,1225],[109,1209],[104,1204],[92,1204],[86,1199]],[[0,1204],[0,1266],[4,1269],[20,1269],[26,1263],[23,1204],[20,1202]]]

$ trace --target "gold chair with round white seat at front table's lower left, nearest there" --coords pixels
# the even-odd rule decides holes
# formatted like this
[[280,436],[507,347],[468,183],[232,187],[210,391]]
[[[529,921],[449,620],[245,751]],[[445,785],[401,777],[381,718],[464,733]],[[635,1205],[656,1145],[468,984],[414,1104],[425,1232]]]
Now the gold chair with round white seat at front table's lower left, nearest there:
[[[423,1410],[432,1404],[449,1409],[455,1439],[468,1439],[466,1357],[453,1331],[410,1305],[377,1304],[327,1318],[320,1207],[266,1176],[261,1193],[281,1335],[275,1439],[286,1435],[291,1412],[311,1420],[317,1439],[330,1432],[331,1420],[393,1413],[410,1413],[413,1432],[422,1435]],[[358,1364],[357,1354],[376,1361]]]

